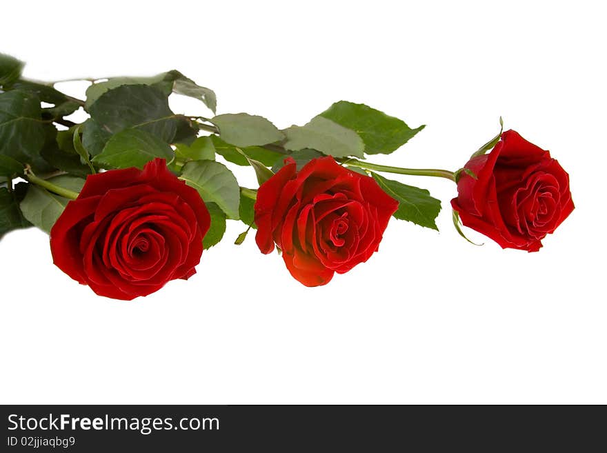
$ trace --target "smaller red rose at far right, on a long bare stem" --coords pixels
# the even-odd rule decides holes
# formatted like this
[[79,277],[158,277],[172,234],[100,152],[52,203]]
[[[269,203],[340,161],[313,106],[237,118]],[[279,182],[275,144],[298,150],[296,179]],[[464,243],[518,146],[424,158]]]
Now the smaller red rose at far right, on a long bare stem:
[[489,236],[502,248],[537,252],[541,239],[573,211],[569,175],[550,152],[508,130],[489,153],[461,173],[451,200],[461,223]]

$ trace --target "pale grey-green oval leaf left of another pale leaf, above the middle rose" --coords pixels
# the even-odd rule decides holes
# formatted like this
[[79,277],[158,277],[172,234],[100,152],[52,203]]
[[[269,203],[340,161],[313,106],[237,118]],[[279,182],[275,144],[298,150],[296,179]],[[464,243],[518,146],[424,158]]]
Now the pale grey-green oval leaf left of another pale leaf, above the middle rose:
[[231,145],[259,146],[284,139],[284,135],[267,119],[248,113],[217,115],[211,122],[219,128],[223,141]]

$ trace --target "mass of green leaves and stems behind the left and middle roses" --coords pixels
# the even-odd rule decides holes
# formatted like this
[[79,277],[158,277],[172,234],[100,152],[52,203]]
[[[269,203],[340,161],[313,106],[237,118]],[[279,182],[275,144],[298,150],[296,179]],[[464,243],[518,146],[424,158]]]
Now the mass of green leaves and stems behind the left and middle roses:
[[[89,174],[143,168],[157,157],[208,206],[211,228],[204,247],[221,241],[226,219],[255,225],[255,191],[241,188],[224,161],[250,166],[259,184],[279,171],[287,157],[301,168],[323,155],[352,171],[373,177],[399,201],[395,218],[436,229],[440,202],[427,190],[348,166],[366,154],[390,154],[424,128],[364,104],[339,101],[304,125],[279,130],[267,119],[246,113],[210,119],[172,112],[172,94],[199,99],[215,114],[217,98],[177,70],[153,77],[91,80],[86,99],[76,99],[53,83],[24,79],[21,61],[0,55],[0,236],[35,225],[50,231],[68,199],[13,179],[36,174],[77,192]],[[70,115],[88,113],[83,123]],[[209,133],[206,135],[206,133]],[[363,165],[360,165],[363,166]],[[26,171],[26,173],[24,173]],[[247,230],[248,231],[248,230]],[[243,241],[243,232],[237,243]]]

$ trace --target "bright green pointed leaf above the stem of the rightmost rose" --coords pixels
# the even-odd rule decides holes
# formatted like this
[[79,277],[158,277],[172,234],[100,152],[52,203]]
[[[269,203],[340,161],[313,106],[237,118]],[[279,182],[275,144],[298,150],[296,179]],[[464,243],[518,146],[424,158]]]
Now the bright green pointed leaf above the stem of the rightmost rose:
[[320,114],[321,117],[354,130],[365,143],[367,154],[390,154],[426,126],[411,129],[404,121],[390,117],[368,105],[339,101]]

